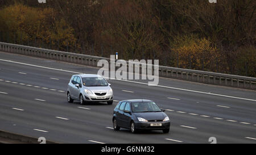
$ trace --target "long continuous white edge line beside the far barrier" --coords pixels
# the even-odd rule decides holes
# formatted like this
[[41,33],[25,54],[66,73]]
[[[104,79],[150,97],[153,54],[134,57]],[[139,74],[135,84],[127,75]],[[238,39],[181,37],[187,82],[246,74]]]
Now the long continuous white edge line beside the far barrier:
[[[38,67],[38,68],[45,68],[45,69],[51,69],[51,70],[58,70],[58,71],[61,71],[61,72],[69,72],[69,73],[84,74],[84,73],[80,73],[80,72],[73,72],[73,71],[70,71],[70,70],[63,70],[63,69],[56,69],[56,68],[48,68],[48,67],[45,67],[45,66],[38,66],[38,65],[26,64],[26,63],[22,63],[22,62],[11,61],[11,60],[3,60],[3,59],[0,59],[0,61],[12,62],[12,63],[22,64],[22,65],[28,65],[28,66],[34,66],[34,67]],[[108,77],[104,77],[104,78],[108,78]],[[109,78],[109,79],[115,79],[115,78]],[[255,99],[240,98],[240,97],[232,97],[232,96],[229,96],[229,95],[214,94],[214,93],[209,93],[209,92],[204,92],[204,91],[196,91],[196,90],[189,90],[189,89],[180,89],[180,88],[169,87],[169,86],[152,85],[152,84],[143,83],[143,82],[128,81],[128,80],[125,80],[125,79],[116,79],[116,80],[118,80],[118,81],[126,81],[126,82],[133,82],[133,83],[139,83],[139,84],[148,85],[148,86],[165,87],[165,88],[168,88],[168,89],[176,89],[176,90],[190,91],[190,92],[193,92],[193,93],[201,93],[201,94],[207,94],[207,95],[216,95],[216,96],[220,96],[220,97],[227,97],[227,98],[235,98],[235,99],[250,100],[250,101],[256,102]]]

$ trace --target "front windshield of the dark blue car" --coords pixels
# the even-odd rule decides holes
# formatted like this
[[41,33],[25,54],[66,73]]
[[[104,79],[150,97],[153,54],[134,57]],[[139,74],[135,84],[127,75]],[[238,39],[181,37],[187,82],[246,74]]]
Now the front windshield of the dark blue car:
[[160,112],[160,108],[154,102],[131,103],[133,112]]

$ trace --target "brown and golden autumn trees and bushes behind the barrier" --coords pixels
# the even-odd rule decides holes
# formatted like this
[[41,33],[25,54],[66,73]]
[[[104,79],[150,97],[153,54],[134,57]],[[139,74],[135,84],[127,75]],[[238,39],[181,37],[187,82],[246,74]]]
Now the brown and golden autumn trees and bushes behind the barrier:
[[0,1],[1,41],[256,76],[251,0]]

